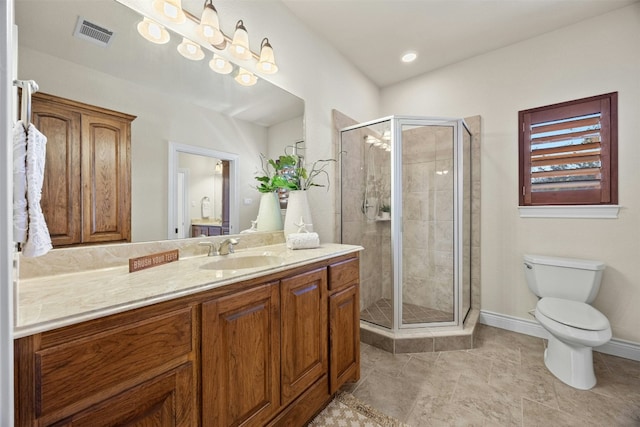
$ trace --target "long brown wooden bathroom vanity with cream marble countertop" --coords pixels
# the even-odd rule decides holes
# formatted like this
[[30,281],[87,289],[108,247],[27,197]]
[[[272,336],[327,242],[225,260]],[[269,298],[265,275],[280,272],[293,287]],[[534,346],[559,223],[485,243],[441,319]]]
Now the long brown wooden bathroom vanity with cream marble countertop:
[[[115,268],[112,288],[87,296],[126,290],[137,300],[58,319],[43,318],[43,305],[31,325],[23,317],[16,425],[304,425],[360,375],[361,248],[248,251],[258,249],[283,261],[216,270],[216,257],[197,256],[136,273]],[[62,280],[90,287],[101,274]],[[23,285],[45,287],[53,301],[50,280]],[[157,295],[140,298],[149,281]],[[76,321],[86,317],[94,318]]]

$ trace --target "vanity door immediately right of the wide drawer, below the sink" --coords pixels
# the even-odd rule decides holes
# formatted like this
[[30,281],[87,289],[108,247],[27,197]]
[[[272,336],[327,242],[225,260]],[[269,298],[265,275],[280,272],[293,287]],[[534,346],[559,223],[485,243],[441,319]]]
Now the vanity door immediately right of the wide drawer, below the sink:
[[202,425],[264,425],[280,408],[278,283],[202,304]]

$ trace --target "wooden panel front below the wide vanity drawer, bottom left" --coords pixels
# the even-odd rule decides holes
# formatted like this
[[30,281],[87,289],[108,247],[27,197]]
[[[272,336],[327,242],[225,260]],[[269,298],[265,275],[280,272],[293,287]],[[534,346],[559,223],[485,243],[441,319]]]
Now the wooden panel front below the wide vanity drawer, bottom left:
[[195,426],[191,362],[159,375],[56,425],[98,426]]

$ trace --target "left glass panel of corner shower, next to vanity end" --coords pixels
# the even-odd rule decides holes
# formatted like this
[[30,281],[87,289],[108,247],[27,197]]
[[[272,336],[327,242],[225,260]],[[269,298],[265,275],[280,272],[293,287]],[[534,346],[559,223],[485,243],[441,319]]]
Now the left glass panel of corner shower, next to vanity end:
[[341,241],[365,248],[360,258],[360,318],[392,329],[391,120],[341,132]]

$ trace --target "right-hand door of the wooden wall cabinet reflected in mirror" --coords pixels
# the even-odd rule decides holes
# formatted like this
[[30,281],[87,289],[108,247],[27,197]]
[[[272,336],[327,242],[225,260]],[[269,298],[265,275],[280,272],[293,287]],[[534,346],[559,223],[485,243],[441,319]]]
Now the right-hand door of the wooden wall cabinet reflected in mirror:
[[129,122],[82,115],[83,242],[129,241]]

